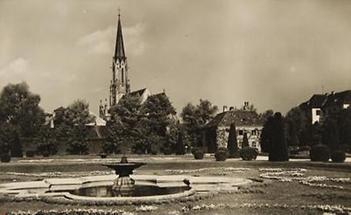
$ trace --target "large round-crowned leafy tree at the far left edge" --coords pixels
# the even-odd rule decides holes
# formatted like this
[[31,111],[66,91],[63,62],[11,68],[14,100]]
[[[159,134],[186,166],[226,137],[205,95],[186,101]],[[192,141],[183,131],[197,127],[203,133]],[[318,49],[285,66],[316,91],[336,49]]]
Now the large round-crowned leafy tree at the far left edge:
[[0,94],[0,121],[2,128],[11,127],[11,137],[2,139],[10,145],[12,156],[22,156],[22,142],[38,135],[45,122],[45,114],[39,106],[40,96],[29,91],[26,83],[8,84]]

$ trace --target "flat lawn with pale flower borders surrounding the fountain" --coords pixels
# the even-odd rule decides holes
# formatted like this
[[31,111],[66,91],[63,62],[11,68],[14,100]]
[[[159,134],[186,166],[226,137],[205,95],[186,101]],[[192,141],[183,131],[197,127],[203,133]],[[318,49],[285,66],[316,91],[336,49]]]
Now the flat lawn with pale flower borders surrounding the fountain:
[[[189,202],[148,206],[82,206],[42,201],[10,202],[1,198],[0,214],[18,210],[116,210],[120,214],[323,214],[351,213],[351,163],[318,163],[307,160],[271,163],[228,159],[216,162],[192,156],[136,156],[130,161],[144,161],[146,166],[135,174],[187,174],[249,178],[254,182],[237,192],[221,192]],[[0,183],[41,180],[48,177],[110,174],[101,163],[116,162],[119,157],[94,156],[20,159],[0,164]]]

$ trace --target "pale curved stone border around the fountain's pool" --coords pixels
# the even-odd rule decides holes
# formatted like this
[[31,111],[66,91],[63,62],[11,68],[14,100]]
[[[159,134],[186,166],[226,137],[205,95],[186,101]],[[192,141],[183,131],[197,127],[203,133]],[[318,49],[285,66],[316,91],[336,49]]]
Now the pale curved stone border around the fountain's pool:
[[89,197],[69,193],[82,187],[112,185],[116,175],[50,178],[42,181],[0,184],[0,195],[12,201],[39,200],[48,203],[83,205],[162,204],[173,201],[192,201],[220,192],[236,192],[238,187],[251,182],[248,179],[231,177],[208,177],[186,175],[133,175],[137,184],[152,184],[159,187],[180,187],[190,182],[190,190],[167,195],[144,197]]

